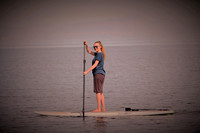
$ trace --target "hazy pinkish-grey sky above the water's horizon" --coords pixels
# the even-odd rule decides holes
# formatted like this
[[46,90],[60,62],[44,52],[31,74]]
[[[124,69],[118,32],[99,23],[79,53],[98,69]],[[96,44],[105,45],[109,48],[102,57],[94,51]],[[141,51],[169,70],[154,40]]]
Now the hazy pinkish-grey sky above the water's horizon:
[[194,0],[6,0],[0,47],[200,42]]

